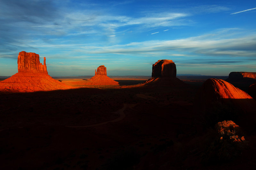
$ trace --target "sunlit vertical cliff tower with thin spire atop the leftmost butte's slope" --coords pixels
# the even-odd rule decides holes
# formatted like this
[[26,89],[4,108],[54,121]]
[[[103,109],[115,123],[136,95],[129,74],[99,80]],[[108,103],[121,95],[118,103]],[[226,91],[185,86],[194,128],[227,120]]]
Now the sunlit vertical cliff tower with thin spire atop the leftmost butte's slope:
[[46,69],[45,57],[44,57],[44,65],[43,65],[39,61],[38,54],[21,51],[18,55],[18,72],[48,74]]

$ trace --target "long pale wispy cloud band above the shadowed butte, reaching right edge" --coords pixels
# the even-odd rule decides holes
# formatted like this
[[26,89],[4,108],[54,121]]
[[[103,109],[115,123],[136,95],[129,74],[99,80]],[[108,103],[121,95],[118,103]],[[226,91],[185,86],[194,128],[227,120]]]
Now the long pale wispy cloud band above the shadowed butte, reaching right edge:
[[[230,29],[232,30],[232,29]],[[239,31],[238,31],[239,32]],[[183,52],[190,55],[203,56],[230,56],[230,57],[253,57],[256,55],[256,33],[250,36],[233,38],[226,37],[228,33],[206,34],[186,39],[176,39],[168,41],[143,41],[133,42],[124,45],[114,45],[101,47],[87,51],[91,54],[130,54],[130,55],[150,55],[156,56],[156,53],[163,52],[162,55],[169,55],[170,52]],[[231,33],[233,35],[233,33]],[[215,38],[215,37],[218,38]],[[177,54],[177,53],[175,53]],[[178,56],[178,55],[176,55]]]

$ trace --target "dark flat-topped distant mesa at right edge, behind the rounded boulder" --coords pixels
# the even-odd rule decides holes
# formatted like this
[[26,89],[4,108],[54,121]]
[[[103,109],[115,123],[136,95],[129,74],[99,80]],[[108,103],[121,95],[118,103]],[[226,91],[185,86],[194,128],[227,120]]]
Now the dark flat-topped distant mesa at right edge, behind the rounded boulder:
[[256,81],[256,72],[230,72],[228,82]]

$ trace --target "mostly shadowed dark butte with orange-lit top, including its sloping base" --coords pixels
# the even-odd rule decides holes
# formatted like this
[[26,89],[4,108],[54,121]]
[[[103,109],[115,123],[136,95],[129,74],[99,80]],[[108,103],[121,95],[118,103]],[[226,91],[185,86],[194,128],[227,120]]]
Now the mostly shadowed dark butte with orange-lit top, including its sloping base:
[[158,60],[152,65],[152,77],[144,82],[146,85],[180,86],[186,85],[176,78],[176,65],[172,60]]

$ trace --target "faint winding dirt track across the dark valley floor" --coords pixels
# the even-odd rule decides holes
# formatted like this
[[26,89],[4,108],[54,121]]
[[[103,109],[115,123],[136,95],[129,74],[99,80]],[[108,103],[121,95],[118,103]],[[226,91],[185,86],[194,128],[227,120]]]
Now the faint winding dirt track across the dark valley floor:
[[118,121],[121,121],[124,119],[125,117],[125,114],[124,114],[124,110],[129,107],[129,108],[132,108],[134,107],[136,104],[126,104],[124,103],[124,107],[117,110],[115,113],[116,114],[119,114],[120,117],[114,119],[114,120],[111,120],[111,121],[107,121],[107,122],[101,122],[101,123],[98,123],[98,124],[92,124],[92,125],[84,125],[84,126],[66,126],[66,127],[70,127],[70,128],[88,128],[88,127],[95,127],[95,126],[100,126],[100,125],[104,125],[104,124],[107,124],[108,122],[118,122]]

